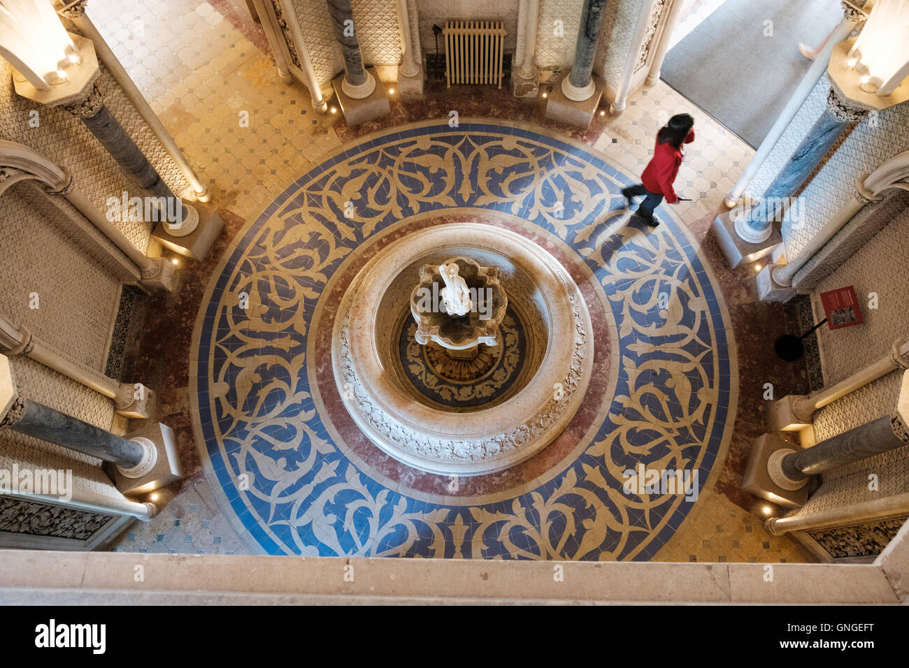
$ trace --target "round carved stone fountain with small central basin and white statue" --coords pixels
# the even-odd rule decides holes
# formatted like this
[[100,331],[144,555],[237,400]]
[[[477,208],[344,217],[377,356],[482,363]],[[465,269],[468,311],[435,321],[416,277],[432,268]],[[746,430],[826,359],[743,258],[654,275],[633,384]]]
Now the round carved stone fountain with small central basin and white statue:
[[345,408],[385,453],[480,475],[540,452],[590,381],[594,336],[567,270],[520,234],[478,223],[387,245],[347,287],[333,332]]

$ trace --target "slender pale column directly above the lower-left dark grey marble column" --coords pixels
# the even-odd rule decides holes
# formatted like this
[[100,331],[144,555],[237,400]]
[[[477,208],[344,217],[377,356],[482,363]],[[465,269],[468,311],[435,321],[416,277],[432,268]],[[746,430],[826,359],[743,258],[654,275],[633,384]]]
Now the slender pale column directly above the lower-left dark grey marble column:
[[116,381],[88,364],[75,360],[55,346],[42,341],[27,328],[14,324],[4,314],[0,314],[0,354],[12,356],[25,354],[35,362],[54,369],[55,372],[72,378],[76,383],[85,385],[99,394],[113,399],[116,412],[126,417],[147,418],[147,394],[143,389],[142,399],[135,397],[135,387]]

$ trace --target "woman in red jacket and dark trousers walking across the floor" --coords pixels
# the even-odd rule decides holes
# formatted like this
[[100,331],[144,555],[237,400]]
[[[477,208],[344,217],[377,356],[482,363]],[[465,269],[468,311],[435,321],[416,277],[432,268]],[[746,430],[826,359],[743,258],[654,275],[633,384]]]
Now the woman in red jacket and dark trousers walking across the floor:
[[666,125],[656,135],[654,157],[641,174],[640,185],[624,188],[622,194],[628,200],[628,206],[633,203],[635,194],[647,195],[644,202],[637,208],[637,215],[644,223],[656,227],[659,222],[654,218],[654,209],[663,202],[675,204],[679,201],[675,194],[673,182],[675,174],[679,173],[682,165],[682,145],[694,142],[694,118],[688,114],[676,114],[669,119]]

